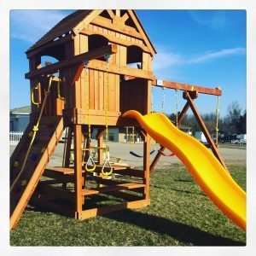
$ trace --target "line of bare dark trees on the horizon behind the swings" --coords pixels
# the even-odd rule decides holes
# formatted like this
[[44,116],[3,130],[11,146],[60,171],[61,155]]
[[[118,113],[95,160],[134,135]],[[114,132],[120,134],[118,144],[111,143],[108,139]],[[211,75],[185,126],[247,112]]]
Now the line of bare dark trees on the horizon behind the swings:
[[[223,134],[244,134],[247,133],[247,111],[242,111],[238,102],[231,102],[224,117],[218,118],[218,133]],[[167,115],[169,119],[175,122],[176,114]],[[204,113],[201,115],[211,134],[216,132],[216,113]],[[201,131],[195,116],[186,114],[182,125],[192,127],[192,132]]]

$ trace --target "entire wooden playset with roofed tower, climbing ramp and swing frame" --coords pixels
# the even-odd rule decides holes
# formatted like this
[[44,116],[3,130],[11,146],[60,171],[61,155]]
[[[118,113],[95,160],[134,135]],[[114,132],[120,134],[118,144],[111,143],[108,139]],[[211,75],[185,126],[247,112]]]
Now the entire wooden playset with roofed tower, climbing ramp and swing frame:
[[[152,86],[183,90],[186,102],[176,125],[191,108],[224,165],[193,101],[199,93],[220,96],[222,91],[154,78],[155,54],[133,10],[76,11],[26,51],[32,113],[10,158],[11,229],[28,202],[80,220],[149,205],[150,172],[165,148],[150,164],[148,133],[122,114],[131,109],[150,113]],[[42,56],[58,61],[44,65]],[[136,127],[143,137],[143,170],[110,162],[109,126]],[[94,129],[96,147],[90,144]],[[64,130],[62,166],[46,168]],[[91,150],[97,151],[96,160]]]

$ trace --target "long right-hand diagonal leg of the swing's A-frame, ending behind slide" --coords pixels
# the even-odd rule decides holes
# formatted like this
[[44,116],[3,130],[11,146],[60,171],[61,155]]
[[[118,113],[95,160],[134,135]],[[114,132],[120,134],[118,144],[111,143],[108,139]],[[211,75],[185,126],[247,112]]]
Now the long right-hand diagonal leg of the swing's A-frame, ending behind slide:
[[189,95],[189,91],[184,91],[183,92],[183,98],[187,99],[187,101],[189,103],[189,107],[191,108],[192,112],[195,115],[195,119],[197,120],[198,124],[201,127],[201,131],[204,133],[205,137],[207,138],[207,143],[209,143],[210,148],[212,149],[212,153],[216,156],[216,158],[224,166],[224,168],[226,170],[228,170],[227,166],[224,163],[224,160],[223,160],[222,156],[218,153],[218,148],[216,147],[215,143],[213,142],[212,137],[210,135],[210,132],[207,129],[206,124],[204,123],[203,119],[201,118],[201,114],[199,113],[199,111],[195,107],[195,103],[194,103],[192,97]]

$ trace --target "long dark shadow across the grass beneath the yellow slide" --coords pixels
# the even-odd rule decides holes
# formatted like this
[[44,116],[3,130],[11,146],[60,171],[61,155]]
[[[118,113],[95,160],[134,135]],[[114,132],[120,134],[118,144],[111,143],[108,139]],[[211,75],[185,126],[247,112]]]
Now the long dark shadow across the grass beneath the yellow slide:
[[160,235],[172,236],[177,241],[192,243],[194,246],[245,246],[241,241],[234,241],[222,236],[215,236],[187,224],[173,222],[143,212],[131,210],[112,212],[106,218],[137,225],[145,230],[152,230]]

